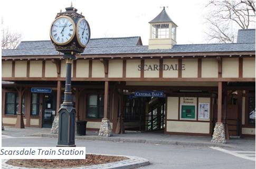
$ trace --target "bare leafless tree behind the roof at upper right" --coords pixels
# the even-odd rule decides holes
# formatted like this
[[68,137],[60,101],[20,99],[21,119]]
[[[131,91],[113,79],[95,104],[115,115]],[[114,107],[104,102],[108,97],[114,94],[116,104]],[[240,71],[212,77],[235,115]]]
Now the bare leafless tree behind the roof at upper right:
[[233,43],[238,29],[255,27],[254,1],[210,1],[206,10],[209,42]]

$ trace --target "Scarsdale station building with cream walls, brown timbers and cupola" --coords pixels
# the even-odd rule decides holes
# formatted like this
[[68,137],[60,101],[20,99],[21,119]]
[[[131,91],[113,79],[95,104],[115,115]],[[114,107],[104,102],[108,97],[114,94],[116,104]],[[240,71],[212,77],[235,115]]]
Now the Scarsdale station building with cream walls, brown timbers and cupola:
[[[116,133],[162,130],[212,136],[255,136],[255,29],[236,43],[177,45],[165,9],[141,38],[95,38],[72,63],[73,104],[87,130],[103,118]],[[2,118],[14,126],[51,128],[63,102],[65,61],[50,40],[2,50]]]

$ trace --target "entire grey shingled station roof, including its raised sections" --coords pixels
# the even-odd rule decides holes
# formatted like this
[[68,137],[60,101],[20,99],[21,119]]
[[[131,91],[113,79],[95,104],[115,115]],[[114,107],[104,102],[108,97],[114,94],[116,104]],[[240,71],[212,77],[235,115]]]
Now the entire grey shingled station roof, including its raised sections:
[[[254,36],[253,36],[254,35]],[[249,36],[249,37],[248,37]],[[253,36],[253,37],[251,37]],[[248,39],[248,40],[244,40]],[[254,39],[254,40],[253,40]],[[255,29],[239,30],[239,43],[232,44],[191,44],[174,45],[172,49],[148,49],[140,37],[91,39],[81,55],[102,54],[156,54],[156,53],[196,53],[196,52],[255,52]],[[50,40],[22,41],[16,49],[2,50],[2,56],[46,56],[59,55]]]

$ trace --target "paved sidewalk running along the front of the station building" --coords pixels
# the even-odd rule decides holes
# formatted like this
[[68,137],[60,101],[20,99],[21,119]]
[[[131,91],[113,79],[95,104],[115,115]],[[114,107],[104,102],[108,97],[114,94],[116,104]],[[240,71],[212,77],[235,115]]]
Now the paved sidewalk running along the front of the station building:
[[[58,134],[51,134],[49,128],[25,128],[16,129],[5,126],[3,135],[24,137],[24,136],[43,136],[58,138]],[[221,146],[232,147],[241,150],[255,150],[255,138],[230,139],[226,144],[211,143],[210,136],[187,136],[187,135],[167,135],[163,131],[154,132],[126,132],[125,134],[113,134],[111,137],[98,136],[97,131],[87,131],[87,135],[76,135],[75,139],[83,140],[101,140],[112,142],[132,142],[132,143],[150,143],[150,144],[176,144],[187,146]]]

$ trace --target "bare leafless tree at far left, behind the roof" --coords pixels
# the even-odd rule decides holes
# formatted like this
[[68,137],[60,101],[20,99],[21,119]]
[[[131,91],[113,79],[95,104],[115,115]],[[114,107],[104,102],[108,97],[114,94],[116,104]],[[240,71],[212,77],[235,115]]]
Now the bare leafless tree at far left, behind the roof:
[[9,29],[4,28],[2,18],[2,49],[14,49],[21,41],[21,34],[12,33]]

